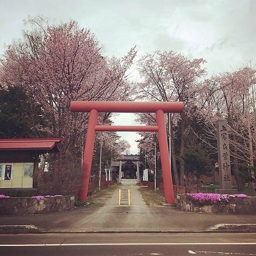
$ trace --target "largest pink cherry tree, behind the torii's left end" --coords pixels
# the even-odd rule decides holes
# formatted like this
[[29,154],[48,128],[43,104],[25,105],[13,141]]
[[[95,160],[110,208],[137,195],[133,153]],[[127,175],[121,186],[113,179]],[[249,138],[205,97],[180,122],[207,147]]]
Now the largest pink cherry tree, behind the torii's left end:
[[[76,21],[50,26],[29,19],[32,31],[23,32],[1,61],[0,82],[29,92],[42,105],[48,136],[65,137],[62,150],[81,148],[87,113],[70,113],[70,102],[129,100],[133,87],[126,72],[136,54],[103,56],[96,36]],[[102,120],[110,114],[102,114]]]

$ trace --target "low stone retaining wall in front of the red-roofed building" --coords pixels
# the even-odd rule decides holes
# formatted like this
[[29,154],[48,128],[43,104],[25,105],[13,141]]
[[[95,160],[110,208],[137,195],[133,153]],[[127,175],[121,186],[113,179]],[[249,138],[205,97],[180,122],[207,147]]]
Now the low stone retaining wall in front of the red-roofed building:
[[45,198],[0,198],[0,215],[44,214],[74,209],[74,196]]

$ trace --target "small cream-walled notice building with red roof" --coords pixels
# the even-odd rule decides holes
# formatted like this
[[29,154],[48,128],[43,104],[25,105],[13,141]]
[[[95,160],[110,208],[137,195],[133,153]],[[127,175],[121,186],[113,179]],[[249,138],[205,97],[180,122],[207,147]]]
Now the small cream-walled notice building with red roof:
[[37,191],[39,155],[58,153],[64,138],[0,139],[0,194]]

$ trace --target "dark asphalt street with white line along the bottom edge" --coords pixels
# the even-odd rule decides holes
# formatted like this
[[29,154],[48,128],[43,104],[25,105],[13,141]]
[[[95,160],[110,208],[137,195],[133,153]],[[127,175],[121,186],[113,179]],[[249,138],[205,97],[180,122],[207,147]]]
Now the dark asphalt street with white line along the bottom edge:
[[0,235],[4,256],[253,256],[256,233]]

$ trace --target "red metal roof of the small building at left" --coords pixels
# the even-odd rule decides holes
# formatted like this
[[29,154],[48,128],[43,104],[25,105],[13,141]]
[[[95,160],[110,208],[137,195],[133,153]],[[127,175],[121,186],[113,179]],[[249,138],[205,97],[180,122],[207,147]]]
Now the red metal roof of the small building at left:
[[59,152],[58,143],[64,138],[0,139],[0,151]]

